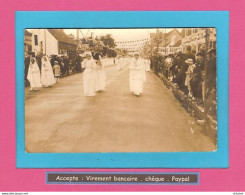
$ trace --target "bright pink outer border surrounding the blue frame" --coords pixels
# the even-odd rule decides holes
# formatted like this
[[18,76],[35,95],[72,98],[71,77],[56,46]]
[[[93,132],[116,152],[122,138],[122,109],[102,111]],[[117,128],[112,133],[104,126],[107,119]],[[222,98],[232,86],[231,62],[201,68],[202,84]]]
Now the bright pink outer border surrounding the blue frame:
[[[241,59],[245,45],[245,1],[243,0],[0,0],[1,7],[1,131],[0,191],[245,191],[244,137],[245,72]],[[15,163],[15,11],[91,10],[229,10],[230,11],[230,168],[144,169],[123,171],[196,171],[199,186],[179,185],[46,185],[47,169],[16,169]],[[4,20],[5,19],[5,20]],[[48,169],[48,171],[61,171]],[[75,169],[63,171],[91,171]],[[119,170],[100,170],[119,171]]]

